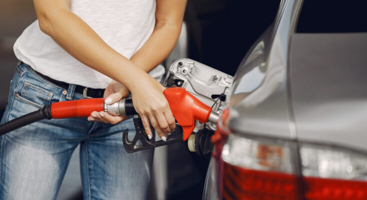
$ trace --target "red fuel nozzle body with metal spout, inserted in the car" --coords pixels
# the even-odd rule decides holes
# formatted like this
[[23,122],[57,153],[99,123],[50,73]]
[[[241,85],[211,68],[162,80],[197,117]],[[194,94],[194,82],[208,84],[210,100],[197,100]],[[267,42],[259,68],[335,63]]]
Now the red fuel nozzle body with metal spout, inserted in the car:
[[173,116],[182,126],[183,140],[187,140],[194,130],[195,119],[205,123],[208,121],[212,108],[183,87],[171,87],[163,91],[166,96]]

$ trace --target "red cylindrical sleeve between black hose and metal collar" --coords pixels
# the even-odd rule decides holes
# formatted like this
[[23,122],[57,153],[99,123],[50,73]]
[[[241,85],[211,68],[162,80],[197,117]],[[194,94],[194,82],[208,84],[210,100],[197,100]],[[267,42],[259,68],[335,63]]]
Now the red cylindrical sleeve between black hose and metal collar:
[[103,111],[104,98],[68,100],[51,104],[53,118],[86,117],[92,111]]

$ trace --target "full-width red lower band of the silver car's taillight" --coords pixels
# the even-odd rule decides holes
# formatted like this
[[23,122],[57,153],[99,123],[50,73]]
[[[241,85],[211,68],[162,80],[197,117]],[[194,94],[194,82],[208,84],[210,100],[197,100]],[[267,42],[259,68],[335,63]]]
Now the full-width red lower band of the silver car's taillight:
[[[298,188],[300,183],[302,188]],[[223,187],[224,199],[367,199],[366,181],[318,177],[297,179],[292,174],[246,169],[226,162],[224,162]]]

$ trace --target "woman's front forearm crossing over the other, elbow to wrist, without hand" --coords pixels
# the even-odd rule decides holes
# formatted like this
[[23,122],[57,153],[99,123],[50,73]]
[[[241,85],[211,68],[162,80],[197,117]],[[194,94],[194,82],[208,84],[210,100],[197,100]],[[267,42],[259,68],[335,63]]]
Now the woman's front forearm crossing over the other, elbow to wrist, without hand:
[[134,85],[132,81],[135,78],[145,73],[108,46],[88,24],[69,9],[58,8],[54,13],[38,19],[42,31],[51,36],[70,55],[128,88]]

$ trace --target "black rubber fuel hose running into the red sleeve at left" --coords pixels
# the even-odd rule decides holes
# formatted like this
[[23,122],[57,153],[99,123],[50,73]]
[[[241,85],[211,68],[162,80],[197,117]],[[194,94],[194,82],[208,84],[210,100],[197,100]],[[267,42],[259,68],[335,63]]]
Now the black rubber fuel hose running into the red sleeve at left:
[[40,108],[39,110],[30,112],[28,114],[14,118],[8,122],[1,124],[0,125],[0,136],[12,130],[15,130],[17,128],[20,128],[22,126],[28,125],[30,123],[33,123],[33,122],[36,122],[42,119],[51,119],[51,118],[52,118],[51,105],[47,104],[43,106],[43,108]]

